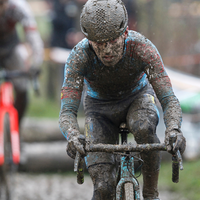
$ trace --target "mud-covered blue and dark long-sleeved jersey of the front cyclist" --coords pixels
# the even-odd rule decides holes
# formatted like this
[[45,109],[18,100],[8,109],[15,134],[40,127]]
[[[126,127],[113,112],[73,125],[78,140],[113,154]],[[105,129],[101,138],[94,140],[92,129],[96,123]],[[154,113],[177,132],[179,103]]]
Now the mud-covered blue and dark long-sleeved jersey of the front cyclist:
[[83,85],[87,95],[100,100],[123,99],[139,92],[148,82],[152,85],[163,111],[168,129],[181,126],[181,108],[173,93],[170,79],[156,47],[135,31],[129,31],[122,59],[105,66],[87,39],[72,50],[66,65],[61,92],[60,129],[67,138],[78,132],[77,110]]

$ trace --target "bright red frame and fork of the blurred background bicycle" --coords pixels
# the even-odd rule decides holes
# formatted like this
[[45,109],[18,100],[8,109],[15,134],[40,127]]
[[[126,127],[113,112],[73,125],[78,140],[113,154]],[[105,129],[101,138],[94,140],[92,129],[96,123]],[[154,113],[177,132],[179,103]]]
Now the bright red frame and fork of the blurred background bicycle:
[[4,134],[3,123],[5,114],[9,114],[10,119],[10,138],[12,146],[12,157],[15,164],[20,161],[20,139],[18,127],[18,112],[13,106],[13,85],[3,82],[0,86],[0,165],[4,163]]

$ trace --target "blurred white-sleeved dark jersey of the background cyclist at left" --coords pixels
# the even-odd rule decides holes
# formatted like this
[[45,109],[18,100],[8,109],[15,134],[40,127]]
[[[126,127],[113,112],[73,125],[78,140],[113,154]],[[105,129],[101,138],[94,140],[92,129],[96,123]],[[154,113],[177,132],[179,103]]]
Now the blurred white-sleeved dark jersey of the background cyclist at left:
[[[26,41],[33,50],[35,62],[42,61],[43,43],[32,12],[24,0],[8,0],[8,7],[0,16],[0,56],[6,56],[19,43],[16,25],[21,24]],[[40,55],[39,55],[40,54]]]

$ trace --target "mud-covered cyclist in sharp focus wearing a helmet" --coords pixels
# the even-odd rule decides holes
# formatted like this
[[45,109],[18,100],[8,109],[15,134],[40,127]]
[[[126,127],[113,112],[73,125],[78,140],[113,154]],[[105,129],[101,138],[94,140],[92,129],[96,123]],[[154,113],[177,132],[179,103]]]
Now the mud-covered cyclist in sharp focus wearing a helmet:
[[[127,11],[121,0],[88,0],[83,7],[80,25],[86,38],[71,51],[61,90],[60,130],[68,141],[67,152],[72,158],[76,151],[85,154],[77,123],[83,89],[84,134],[93,143],[116,144],[122,122],[127,123],[138,144],[159,143],[157,97],[164,113],[168,151],[185,150],[182,112],[162,58],[152,42],[129,30],[127,23]],[[173,148],[171,134],[176,135]],[[160,154],[148,152],[141,157],[143,197],[159,200]],[[115,199],[115,156],[88,153],[85,161],[94,184],[92,200]]]

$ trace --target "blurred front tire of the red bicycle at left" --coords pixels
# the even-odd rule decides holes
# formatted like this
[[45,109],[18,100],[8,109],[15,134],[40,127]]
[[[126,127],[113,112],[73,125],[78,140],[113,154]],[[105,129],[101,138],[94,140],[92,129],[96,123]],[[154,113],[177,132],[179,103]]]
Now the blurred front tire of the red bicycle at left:
[[3,123],[4,133],[4,164],[0,166],[0,200],[12,200],[14,189],[13,173],[16,166],[12,159],[12,147],[10,139],[10,120],[9,114],[6,113]]

